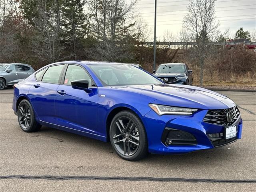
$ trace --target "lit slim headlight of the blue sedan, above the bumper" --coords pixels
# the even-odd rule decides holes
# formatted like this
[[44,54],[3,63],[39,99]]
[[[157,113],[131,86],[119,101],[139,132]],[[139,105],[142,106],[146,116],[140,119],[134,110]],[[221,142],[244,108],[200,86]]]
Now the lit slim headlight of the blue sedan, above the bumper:
[[197,109],[171,107],[166,105],[148,105],[158,115],[192,115]]

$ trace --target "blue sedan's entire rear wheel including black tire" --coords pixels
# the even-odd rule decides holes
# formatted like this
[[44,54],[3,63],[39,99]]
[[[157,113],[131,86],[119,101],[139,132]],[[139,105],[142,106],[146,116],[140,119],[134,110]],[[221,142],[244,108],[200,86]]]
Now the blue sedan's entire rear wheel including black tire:
[[41,125],[36,122],[34,110],[30,102],[22,100],[17,110],[18,122],[24,132],[36,132],[40,130]]

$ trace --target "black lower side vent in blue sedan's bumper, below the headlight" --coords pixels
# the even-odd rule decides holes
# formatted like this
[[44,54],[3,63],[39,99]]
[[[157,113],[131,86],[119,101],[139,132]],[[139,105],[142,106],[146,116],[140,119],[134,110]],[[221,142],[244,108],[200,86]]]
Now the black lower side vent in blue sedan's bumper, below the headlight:
[[177,129],[165,128],[162,135],[162,142],[170,145],[196,145],[197,141],[194,135]]

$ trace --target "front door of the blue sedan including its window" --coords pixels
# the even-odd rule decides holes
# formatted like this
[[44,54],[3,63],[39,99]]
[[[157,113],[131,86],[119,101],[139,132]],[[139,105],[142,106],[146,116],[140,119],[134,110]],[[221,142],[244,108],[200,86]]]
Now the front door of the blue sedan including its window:
[[[91,92],[74,89],[74,80],[88,80]],[[68,128],[98,134],[98,88],[88,72],[80,65],[69,64],[63,82],[57,88],[57,124]]]

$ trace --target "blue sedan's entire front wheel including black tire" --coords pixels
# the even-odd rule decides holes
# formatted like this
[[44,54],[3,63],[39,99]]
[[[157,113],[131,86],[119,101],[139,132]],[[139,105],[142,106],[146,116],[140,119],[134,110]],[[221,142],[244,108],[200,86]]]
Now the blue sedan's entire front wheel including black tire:
[[144,125],[130,110],[121,111],[114,116],[109,135],[113,149],[125,160],[137,161],[148,154],[148,140]]

